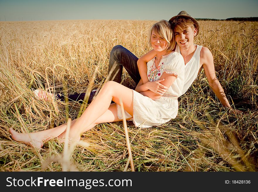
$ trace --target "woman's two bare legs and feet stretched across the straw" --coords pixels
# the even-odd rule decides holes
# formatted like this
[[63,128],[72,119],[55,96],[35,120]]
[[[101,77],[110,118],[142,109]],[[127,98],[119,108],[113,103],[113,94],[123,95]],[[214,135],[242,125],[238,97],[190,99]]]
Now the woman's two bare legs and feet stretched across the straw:
[[[111,104],[108,109],[104,111],[107,103],[111,102],[111,99],[119,104],[119,98],[121,97],[125,110],[133,116],[133,93],[131,89],[116,82],[107,82],[98,95],[84,111],[82,116],[72,121],[69,137],[73,140],[77,140],[81,133],[88,131],[96,124],[120,121],[116,114],[116,103]],[[78,121],[79,123],[77,123]],[[62,133],[65,131],[66,127],[67,124],[63,124],[52,129],[29,134],[18,133],[10,128],[9,132],[12,134],[13,140],[35,148],[41,148],[46,141],[52,138],[58,136],[59,138],[63,138]]]

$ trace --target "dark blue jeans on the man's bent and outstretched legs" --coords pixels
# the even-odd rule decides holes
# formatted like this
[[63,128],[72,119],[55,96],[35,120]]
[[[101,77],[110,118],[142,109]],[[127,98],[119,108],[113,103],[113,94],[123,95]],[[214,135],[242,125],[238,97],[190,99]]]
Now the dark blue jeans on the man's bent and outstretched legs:
[[[110,79],[113,79],[113,81],[120,83],[122,81],[122,72],[124,67],[125,70],[128,72],[128,74],[130,75],[130,77],[135,82],[135,84],[137,85],[141,79],[138,66],[137,66],[137,60],[138,58],[128,49],[124,48],[121,45],[114,46],[110,52],[109,65],[108,65],[108,73],[111,72],[114,66],[114,70],[111,72]],[[133,89],[135,89],[135,87]],[[91,91],[88,99],[88,103],[91,103],[95,92],[96,91]],[[84,96],[85,96],[85,93],[69,94],[68,101],[83,102]],[[64,101],[65,95],[57,94],[57,98],[60,99],[61,101]]]

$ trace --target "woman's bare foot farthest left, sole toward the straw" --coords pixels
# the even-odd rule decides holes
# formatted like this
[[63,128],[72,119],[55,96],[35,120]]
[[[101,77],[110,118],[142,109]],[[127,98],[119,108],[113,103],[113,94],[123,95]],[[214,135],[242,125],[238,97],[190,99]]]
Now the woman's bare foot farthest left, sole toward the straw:
[[42,140],[38,141],[38,138],[36,138],[35,136],[33,137],[33,133],[18,133],[12,128],[9,129],[9,133],[12,135],[12,139],[14,141],[27,144],[34,148],[42,148],[44,144]]

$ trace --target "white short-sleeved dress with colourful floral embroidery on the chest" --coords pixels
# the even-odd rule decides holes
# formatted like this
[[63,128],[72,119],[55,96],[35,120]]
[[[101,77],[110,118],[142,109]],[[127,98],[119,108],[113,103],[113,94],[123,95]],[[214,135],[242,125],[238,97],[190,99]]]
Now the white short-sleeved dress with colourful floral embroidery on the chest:
[[[184,58],[180,53],[172,52],[162,56],[157,68],[155,58],[147,63],[149,81],[157,81],[163,72],[177,75],[174,83],[159,99],[152,100],[147,96],[133,91],[133,123],[136,127],[152,127],[161,125],[174,119],[178,112],[177,98],[182,94],[184,87]],[[117,104],[117,116],[122,119],[120,105]],[[125,111],[125,118],[132,117]]]

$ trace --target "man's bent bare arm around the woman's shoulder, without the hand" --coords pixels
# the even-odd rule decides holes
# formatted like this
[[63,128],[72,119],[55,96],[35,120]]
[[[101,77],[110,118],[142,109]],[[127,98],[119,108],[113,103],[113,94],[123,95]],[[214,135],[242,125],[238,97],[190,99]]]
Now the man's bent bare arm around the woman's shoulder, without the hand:
[[143,84],[149,82],[149,79],[147,77],[147,62],[152,60],[156,55],[157,55],[156,51],[152,49],[145,55],[141,56],[137,61],[138,69],[139,69]]

